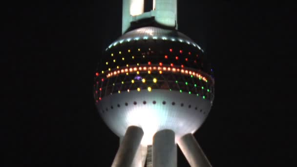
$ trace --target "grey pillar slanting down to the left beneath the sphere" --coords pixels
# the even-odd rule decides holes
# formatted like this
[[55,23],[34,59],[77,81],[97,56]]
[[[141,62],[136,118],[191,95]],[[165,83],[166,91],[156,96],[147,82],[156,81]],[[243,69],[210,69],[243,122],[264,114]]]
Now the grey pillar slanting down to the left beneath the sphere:
[[143,134],[140,127],[129,126],[127,128],[111,167],[131,167]]

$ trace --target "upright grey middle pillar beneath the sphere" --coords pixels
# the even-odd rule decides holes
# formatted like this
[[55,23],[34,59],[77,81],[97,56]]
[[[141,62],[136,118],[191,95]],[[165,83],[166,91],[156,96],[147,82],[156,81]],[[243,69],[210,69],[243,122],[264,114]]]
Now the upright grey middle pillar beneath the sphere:
[[161,130],[153,136],[152,167],[177,167],[175,135],[172,130]]

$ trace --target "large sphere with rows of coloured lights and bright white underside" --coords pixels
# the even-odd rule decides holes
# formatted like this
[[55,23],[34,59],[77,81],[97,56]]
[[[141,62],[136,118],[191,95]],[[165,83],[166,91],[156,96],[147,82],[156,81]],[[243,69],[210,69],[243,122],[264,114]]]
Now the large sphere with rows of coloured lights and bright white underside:
[[144,130],[150,145],[159,130],[175,139],[194,133],[208,116],[214,79],[203,50],[186,35],[142,27],[107,48],[95,75],[94,98],[106,125],[119,137],[127,127]]

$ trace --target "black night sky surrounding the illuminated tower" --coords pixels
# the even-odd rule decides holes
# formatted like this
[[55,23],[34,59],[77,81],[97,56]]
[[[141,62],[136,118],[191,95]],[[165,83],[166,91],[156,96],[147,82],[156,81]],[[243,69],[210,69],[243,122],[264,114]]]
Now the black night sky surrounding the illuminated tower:
[[[203,46],[214,69],[212,111],[195,133],[213,167],[297,165],[291,5],[179,0],[179,31]],[[23,1],[7,9],[4,46],[17,75],[8,163],[109,167],[119,140],[97,113],[92,88],[103,50],[121,35],[121,1]],[[189,167],[180,151],[178,166]]]

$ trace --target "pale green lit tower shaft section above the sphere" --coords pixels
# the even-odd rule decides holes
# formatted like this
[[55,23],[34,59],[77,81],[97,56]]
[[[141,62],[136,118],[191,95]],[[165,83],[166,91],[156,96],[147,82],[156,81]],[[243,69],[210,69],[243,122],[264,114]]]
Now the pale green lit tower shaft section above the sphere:
[[122,34],[133,26],[151,24],[177,29],[177,0],[152,0],[152,10],[144,12],[144,0],[123,0]]

